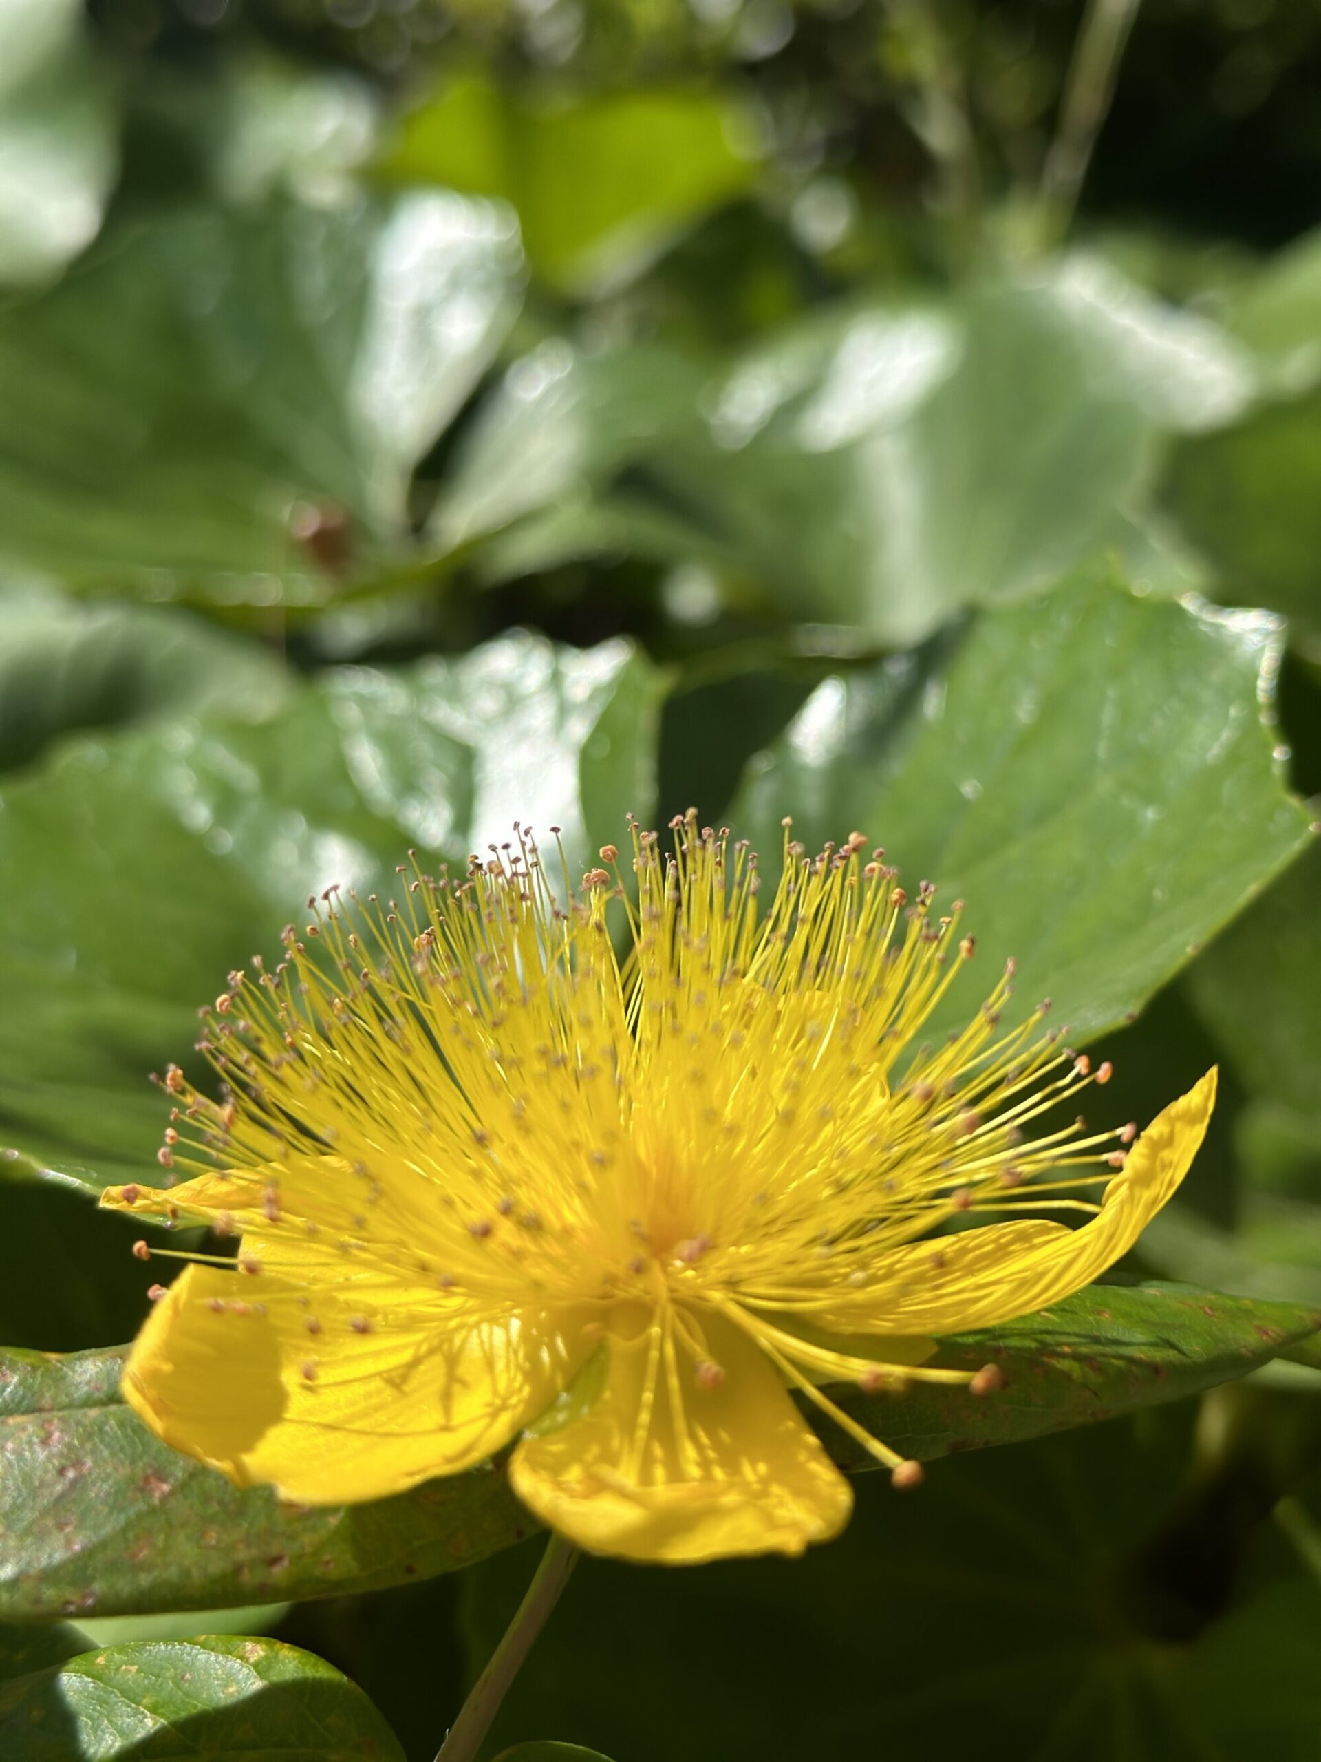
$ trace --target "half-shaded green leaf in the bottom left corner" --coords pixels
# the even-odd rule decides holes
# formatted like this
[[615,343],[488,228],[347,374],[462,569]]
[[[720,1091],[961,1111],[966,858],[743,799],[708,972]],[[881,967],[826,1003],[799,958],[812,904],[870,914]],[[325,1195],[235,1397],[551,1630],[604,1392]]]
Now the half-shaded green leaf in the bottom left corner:
[[23,1762],[403,1762],[366,1695],[259,1639],[141,1640],[0,1686],[0,1748]]

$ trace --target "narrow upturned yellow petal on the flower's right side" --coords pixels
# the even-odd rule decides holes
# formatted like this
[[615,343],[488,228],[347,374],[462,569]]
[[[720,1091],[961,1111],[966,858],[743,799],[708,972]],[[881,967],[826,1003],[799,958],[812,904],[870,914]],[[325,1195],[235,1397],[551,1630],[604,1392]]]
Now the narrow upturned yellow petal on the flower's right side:
[[[821,1329],[953,1334],[995,1327],[1069,1297],[1113,1267],[1175,1193],[1214,1105],[1210,1070],[1157,1114],[1106,1186],[1101,1210],[1080,1230],[1023,1219],[914,1242],[886,1256],[856,1306],[840,1304],[812,1320]],[[884,1348],[875,1350],[882,1355]]]

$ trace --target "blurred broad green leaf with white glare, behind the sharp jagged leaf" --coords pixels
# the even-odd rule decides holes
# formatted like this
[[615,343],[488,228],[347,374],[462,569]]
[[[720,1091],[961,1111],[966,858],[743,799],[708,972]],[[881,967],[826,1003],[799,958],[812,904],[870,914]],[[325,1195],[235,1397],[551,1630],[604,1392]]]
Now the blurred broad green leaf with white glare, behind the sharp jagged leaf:
[[[555,342],[506,375],[437,530],[456,543],[553,504],[551,557],[576,537],[699,559],[794,618],[909,645],[1104,546],[1148,587],[1194,585],[1147,507],[1159,442],[1231,419],[1254,386],[1214,326],[1083,259],[948,301],[826,308],[722,374]],[[583,520],[585,500],[613,518]]]

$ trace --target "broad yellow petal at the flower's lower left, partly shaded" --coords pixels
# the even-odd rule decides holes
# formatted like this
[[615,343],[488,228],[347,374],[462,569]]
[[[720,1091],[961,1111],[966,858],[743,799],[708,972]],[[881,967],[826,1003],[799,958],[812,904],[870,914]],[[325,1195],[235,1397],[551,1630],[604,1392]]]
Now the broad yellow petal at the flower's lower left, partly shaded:
[[308,1292],[194,1265],[148,1316],[123,1394],[236,1485],[340,1505],[484,1461],[590,1350],[567,1313],[474,1323],[384,1283]]

